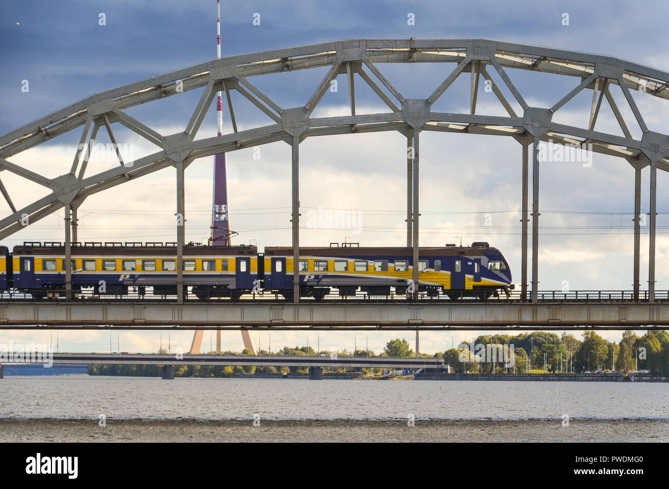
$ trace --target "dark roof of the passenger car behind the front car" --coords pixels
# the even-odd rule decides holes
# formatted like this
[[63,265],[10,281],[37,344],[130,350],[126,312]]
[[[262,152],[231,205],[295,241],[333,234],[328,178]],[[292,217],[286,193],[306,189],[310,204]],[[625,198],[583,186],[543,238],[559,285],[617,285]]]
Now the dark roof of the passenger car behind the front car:
[[[14,247],[15,255],[65,255],[65,247],[61,242],[37,242],[27,241],[22,245]],[[205,255],[256,255],[258,248],[248,245],[235,247],[213,247],[201,244],[184,244],[184,256]],[[84,242],[72,243],[72,256],[101,255],[101,256],[133,256],[133,255],[155,255],[170,256],[177,254],[175,242]]]

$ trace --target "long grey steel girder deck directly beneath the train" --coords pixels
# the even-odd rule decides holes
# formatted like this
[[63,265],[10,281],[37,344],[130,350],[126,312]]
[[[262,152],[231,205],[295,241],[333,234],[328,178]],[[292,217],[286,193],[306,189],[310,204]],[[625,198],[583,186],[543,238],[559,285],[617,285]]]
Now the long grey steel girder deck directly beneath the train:
[[669,303],[619,301],[0,302],[0,329],[652,329]]

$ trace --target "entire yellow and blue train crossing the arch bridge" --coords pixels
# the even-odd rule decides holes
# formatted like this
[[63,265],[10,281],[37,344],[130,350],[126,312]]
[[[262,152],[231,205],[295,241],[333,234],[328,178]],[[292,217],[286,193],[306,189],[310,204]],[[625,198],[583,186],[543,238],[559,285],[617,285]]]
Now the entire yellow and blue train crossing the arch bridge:
[[[93,288],[96,293],[145,295],[177,292],[175,243],[86,242],[71,249],[72,291]],[[42,299],[65,288],[65,248],[60,242],[24,242],[9,251],[0,247],[0,289]],[[292,299],[292,247],[211,247],[189,243],[183,247],[183,285],[200,299],[276,292]],[[388,295],[412,289],[428,295],[486,299],[512,289],[511,271],[498,249],[487,242],[471,247],[419,249],[419,284],[413,285],[411,248],[319,247],[300,248],[300,295],[322,299],[333,289],[342,296],[357,292]],[[132,288],[132,289],[130,289]]]

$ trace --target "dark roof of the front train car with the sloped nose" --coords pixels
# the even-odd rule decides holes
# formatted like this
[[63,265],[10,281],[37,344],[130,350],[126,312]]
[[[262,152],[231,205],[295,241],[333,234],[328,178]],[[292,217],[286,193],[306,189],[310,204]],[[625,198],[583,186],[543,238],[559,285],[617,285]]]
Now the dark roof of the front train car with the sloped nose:
[[[265,256],[292,256],[292,247],[266,247]],[[421,257],[457,257],[459,255],[483,255],[500,253],[492,247],[420,247]],[[408,247],[300,247],[300,255],[314,257],[411,257],[413,248]]]

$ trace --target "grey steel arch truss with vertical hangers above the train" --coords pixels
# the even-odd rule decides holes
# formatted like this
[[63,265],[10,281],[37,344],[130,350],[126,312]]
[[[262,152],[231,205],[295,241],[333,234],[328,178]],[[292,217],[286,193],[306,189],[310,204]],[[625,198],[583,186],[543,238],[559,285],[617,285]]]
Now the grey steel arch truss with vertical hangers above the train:
[[[434,92],[423,99],[405,98],[393,85],[391,79],[383,75],[381,63],[450,63],[446,77],[436,79]],[[259,90],[253,83],[254,77],[270,73],[329,67],[322,82],[312,93],[305,95],[303,106],[282,108],[271,94]],[[511,69],[523,69],[553,73],[565,77],[575,77],[575,88],[554,98],[551,107],[531,107],[520,90],[510,79]],[[490,73],[497,73],[502,84],[495,84]],[[377,114],[356,114],[355,78],[359,77],[388,106],[389,112]],[[455,80],[470,73],[469,113],[434,112],[433,105]],[[350,115],[341,117],[314,118],[312,113],[330,82],[338,75],[347,77],[350,100]],[[492,92],[508,115],[490,116],[477,113],[476,99],[480,77],[490,84]],[[77,209],[84,200],[96,192],[120,185],[128,180],[140,178],[157,170],[174,166],[177,170],[177,214],[184,214],[184,171],[197,158],[221,152],[231,152],[241,148],[260,146],[271,142],[285,141],[292,146],[292,215],[299,212],[299,144],[312,136],[332,134],[353,134],[380,131],[398,131],[407,138],[409,152],[407,159],[407,246],[413,247],[413,259],[418,258],[419,232],[419,135],[421,131],[454,132],[463,134],[488,134],[511,136],[522,146],[522,291],[527,292],[528,277],[528,222],[532,216],[533,249],[531,255],[532,301],[537,302],[538,246],[539,246],[539,142],[553,140],[557,144],[591,144],[592,150],[601,154],[625,158],[635,173],[635,219],[634,219],[634,291],[638,297],[640,263],[640,195],[641,170],[650,166],[650,259],[648,270],[648,297],[654,301],[655,289],[655,234],[656,234],[656,174],[657,170],[669,171],[669,136],[652,132],[636,104],[631,90],[643,92],[645,97],[669,99],[669,73],[638,63],[547,47],[537,47],[486,39],[349,39],[318,43],[289,49],[261,51],[237,56],[224,57],[193,65],[145,79],[134,84],[100,92],[76,102],[53,114],[31,122],[0,137],[0,170],[7,170],[50,191],[31,204],[17,209],[11,195],[0,182],[0,192],[5,197],[11,215],[0,220],[0,239],[10,236],[25,225],[33,224],[60,208],[66,212],[65,242],[66,263],[70,263],[71,242],[76,242]],[[177,96],[182,92],[204,87],[203,94],[193,110],[193,114],[183,132],[159,134],[156,130],[132,118],[125,110],[154,100]],[[512,99],[503,92],[508,90]],[[230,92],[236,90],[256,108],[262,110],[273,124],[237,130],[235,108]],[[587,127],[557,124],[553,115],[567,102],[583,90],[592,90]],[[621,90],[634,115],[634,120],[626,120],[619,110],[611,90]],[[213,138],[195,140],[207,110],[216,92],[224,91],[233,132]],[[308,98],[307,98],[308,97]],[[617,124],[624,136],[595,130],[597,117],[603,100],[610,106]],[[522,108],[517,114],[509,100],[514,100]],[[480,110],[479,110],[480,112]],[[648,118],[648,114],[646,114]],[[628,124],[634,122],[641,129],[642,137],[635,139]],[[104,126],[112,143],[116,144],[112,126],[118,123],[147,141],[155,144],[160,151],[134,162],[124,162],[118,153],[116,168],[90,174],[87,168],[88,154],[98,133]],[[62,134],[83,126],[80,145],[74,154],[70,172],[57,178],[47,178],[10,161],[11,157],[33,148],[45,141],[58,138]],[[118,126],[116,126],[118,127]],[[528,176],[529,146],[533,146],[533,192],[532,212],[529,212]],[[88,151],[87,151],[88,149]],[[86,171],[88,170],[88,172]],[[414,218],[416,216],[416,218]],[[183,224],[177,225],[177,260],[182,259],[185,240]],[[298,256],[299,222],[292,220],[292,244],[294,257]],[[177,263],[179,283],[183,283],[182,267]],[[297,273],[297,271],[295,272]],[[413,281],[417,283],[417,268],[413,271]],[[294,282],[296,289],[298,281]],[[68,296],[71,291],[71,271],[66,272]],[[183,301],[182,287],[178,287],[179,300]],[[298,290],[294,300],[299,301]],[[524,296],[525,297],[525,296]]]

